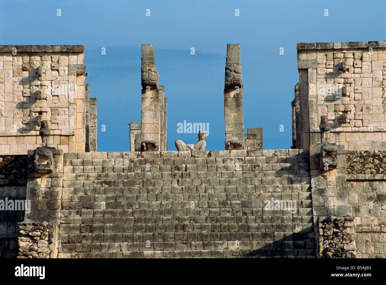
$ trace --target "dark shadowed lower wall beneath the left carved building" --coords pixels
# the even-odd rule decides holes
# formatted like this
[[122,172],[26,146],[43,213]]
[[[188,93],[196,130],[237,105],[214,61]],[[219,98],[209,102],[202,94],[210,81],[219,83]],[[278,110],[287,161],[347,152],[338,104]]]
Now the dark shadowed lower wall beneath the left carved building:
[[26,190],[27,155],[0,155],[0,200],[4,202],[0,206],[0,258],[17,256],[17,223],[24,221],[25,212],[5,210],[5,202],[25,200]]

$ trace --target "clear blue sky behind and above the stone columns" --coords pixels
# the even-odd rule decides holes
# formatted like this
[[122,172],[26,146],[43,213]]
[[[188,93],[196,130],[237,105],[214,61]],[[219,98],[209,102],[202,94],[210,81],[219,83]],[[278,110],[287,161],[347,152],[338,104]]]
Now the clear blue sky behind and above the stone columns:
[[296,43],[385,40],[385,11],[384,0],[7,1],[0,7],[0,44],[85,46],[101,152],[129,151],[127,123],[141,121],[141,44],[154,44],[165,86],[168,150],[176,150],[176,139],[197,142],[196,134],[177,133],[184,120],[209,123],[206,149],[223,150],[226,50],[240,44],[244,131],[262,127],[264,149],[281,149],[292,145]]

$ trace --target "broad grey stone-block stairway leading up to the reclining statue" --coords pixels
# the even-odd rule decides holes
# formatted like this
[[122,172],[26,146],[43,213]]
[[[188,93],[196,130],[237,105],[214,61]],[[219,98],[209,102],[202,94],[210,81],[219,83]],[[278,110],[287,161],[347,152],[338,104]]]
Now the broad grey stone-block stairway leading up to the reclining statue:
[[315,257],[306,150],[66,153],[63,170],[59,258]]

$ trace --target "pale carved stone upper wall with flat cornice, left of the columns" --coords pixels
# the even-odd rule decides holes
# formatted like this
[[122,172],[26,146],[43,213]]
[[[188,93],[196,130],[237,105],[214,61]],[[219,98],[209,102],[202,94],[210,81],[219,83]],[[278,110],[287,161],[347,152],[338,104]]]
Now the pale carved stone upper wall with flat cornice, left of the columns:
[[51,146],[84,152],[84,46],[0,46],[0,154],[41,146],[42,120]]

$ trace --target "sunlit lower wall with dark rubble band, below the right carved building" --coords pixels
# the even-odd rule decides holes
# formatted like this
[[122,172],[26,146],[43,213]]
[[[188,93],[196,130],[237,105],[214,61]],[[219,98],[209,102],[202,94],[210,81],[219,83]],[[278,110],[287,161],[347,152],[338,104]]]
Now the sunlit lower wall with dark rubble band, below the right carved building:
[[358,258],[386,257],[386,152],[346,152],[350,215]]

